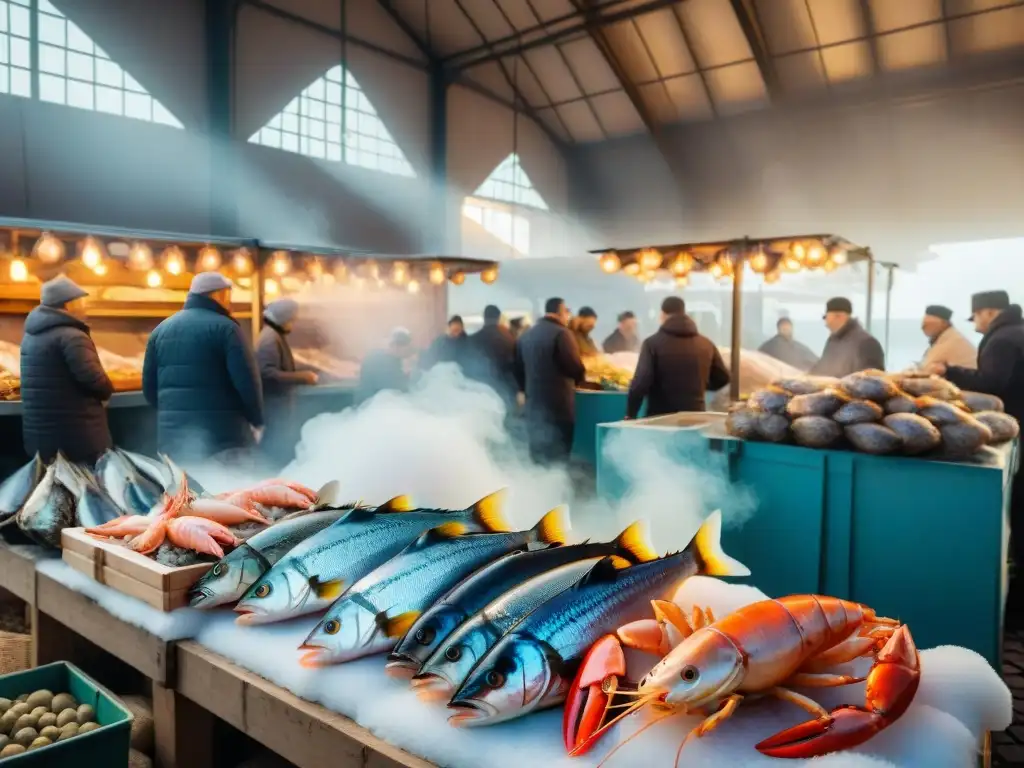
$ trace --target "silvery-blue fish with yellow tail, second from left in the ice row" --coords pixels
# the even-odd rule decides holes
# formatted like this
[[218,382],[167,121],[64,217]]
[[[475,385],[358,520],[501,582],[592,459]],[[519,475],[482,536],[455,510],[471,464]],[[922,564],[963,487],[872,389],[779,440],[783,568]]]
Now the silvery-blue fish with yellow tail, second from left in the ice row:
[[381,507],[359,507],[307,539],[270,568],[234,610],[241,624],[281,622],[327,608],[348,587],[390,560],[419,536],[446,522],[469,530],[508,530],[504,493],[465,510],[414,509],[407,497]]

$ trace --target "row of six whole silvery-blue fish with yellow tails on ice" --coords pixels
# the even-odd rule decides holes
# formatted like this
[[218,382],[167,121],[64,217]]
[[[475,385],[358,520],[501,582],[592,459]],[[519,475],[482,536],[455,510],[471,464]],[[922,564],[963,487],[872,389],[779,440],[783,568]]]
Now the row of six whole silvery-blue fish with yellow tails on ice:
[[191,605],[241,598],[244,625],[326,609],[300,664],[390,651],[389,674],[447,701],[454,725],[481,725],[560,703],[588,648],[682,580],[749,572],[722,551],[718,512],[684,550],[658,557],[642,523],[567,544],[563,508],[513,531],[502,497],[461,511],[398,497],[293,515],[211,568]]

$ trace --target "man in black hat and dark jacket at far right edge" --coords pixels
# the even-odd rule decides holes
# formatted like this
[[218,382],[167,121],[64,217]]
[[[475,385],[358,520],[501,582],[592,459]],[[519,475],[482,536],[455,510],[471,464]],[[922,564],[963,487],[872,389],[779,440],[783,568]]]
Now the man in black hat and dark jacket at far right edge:
[[[928,372],[945,376],[961,389],[994,394],[1007,413],[1024,422],[1024,316],[1011,304],[1006,291],[986,291],[971,297],[975,330],[983,334],[978,344],[978,369],[934,362]],[[1015,578],[1008,599],[1008,623],[1024,626],[1024,479],[1014,478],[1010,499],[1011,557]]]

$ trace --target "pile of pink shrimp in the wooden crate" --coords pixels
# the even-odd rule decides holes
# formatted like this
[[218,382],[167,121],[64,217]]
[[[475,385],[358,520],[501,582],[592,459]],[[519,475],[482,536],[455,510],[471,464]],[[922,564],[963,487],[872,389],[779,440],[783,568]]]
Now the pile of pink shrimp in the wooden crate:
[[223,557],[223,546],[238,547],[242,542],[227,526],[255,522],[269,525],[270,520],[257,504],[285,509],[308,509],[316,503],[316,493],[304,485],[273,478],[249,488],[197,498],[188,490],[188,481],[179,478],[178,490],[165,495],[160,512],[146,515],[123,515],[85,532],[99,539],[122,539],[142,555],[155,552],[165,540],[175,547],[205,555]]

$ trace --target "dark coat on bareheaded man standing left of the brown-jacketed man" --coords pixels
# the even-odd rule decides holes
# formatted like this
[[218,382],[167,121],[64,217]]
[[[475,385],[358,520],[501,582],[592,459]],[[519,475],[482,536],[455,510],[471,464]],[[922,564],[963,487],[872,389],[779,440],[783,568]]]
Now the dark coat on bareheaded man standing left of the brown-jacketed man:
[[515,345],[515,378],[526,393],[526,419],[575,422],[575,387],[587,370],[572,332],[556,319],[542,317]]

